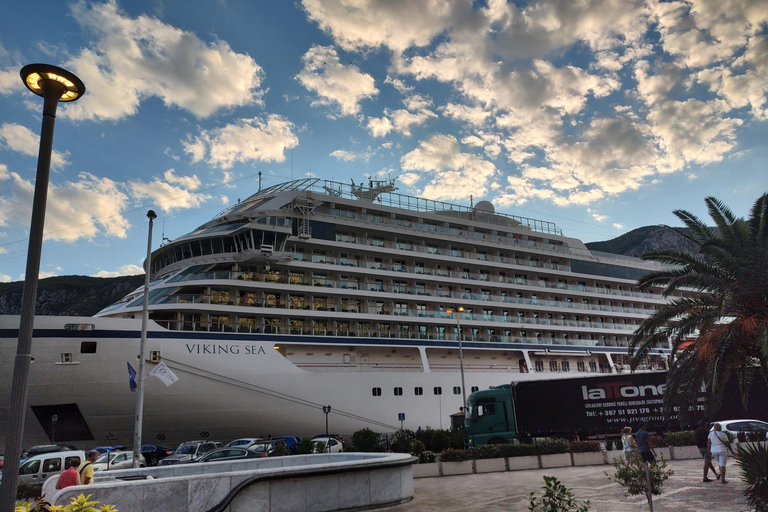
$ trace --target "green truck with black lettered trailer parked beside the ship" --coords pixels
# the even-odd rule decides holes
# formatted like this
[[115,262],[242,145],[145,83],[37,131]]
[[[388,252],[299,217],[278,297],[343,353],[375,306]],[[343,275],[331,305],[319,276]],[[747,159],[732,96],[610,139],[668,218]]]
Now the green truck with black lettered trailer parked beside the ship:
[[[666,372],[607,374],[512,382],[472,393],[465,411],[465,444],[501,444],[542,437],[568,439],[618,435],[641,422],[651,432],[692,428],[696,420],[768,418],[768,392],[754,379],[749,409],[735,382],[726,387],[719,411],[707,409],[703,391],[695,405],[664,413]],[[759,382],[758,382],[759,381]]]

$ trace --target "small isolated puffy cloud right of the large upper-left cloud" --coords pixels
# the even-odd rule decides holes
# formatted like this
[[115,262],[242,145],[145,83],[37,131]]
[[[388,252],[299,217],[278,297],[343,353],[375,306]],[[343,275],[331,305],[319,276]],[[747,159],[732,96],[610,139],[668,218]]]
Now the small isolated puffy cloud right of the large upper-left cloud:
[[296,79],[319,98],[316,105],[336,105],[342,115],[360,112],[360,102],[379,93],[373,77],[357,66],[345,66],[336,50],[329,46],[313,46],[301,58],[304,68]]

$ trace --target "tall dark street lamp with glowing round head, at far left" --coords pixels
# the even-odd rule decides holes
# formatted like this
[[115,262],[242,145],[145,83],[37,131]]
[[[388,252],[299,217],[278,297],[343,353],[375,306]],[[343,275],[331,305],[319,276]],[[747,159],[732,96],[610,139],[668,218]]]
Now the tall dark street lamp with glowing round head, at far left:
[[29,391],[29,366],[32,361],[32,330],[35,323],[37,283],[40,273],[40,254],[43,248],[45,205],[48,196],[48,176],[51,172],[53,128],[56,108],[60,101],[75,101],[85,94],[85,85],[73,73],[48,64],[29,64],[21,68],[24,85],[43,97],[43,127],[40,132],[40,149],[37,155],[35,195],[32,200],[32,221],[29,228],[27,268],[24,274],[24,292],[21,299],[19,341],[13,365],[11,387],[11,411],[5,442],[5,472],[0,488],[0,512],[12,512],[15,507],[21,443],[24,436],[24,416]]

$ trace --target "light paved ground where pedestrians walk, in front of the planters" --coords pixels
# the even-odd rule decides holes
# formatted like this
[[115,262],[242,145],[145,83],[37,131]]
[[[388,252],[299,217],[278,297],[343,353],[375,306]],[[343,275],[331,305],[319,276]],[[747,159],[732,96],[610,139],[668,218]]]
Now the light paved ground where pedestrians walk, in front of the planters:
[[[729,461],[732,462],[732,461]],[[670,461],[675,471],[653,498],[654,512],[748,512],[738,470],[729,464],[729,483],[704,483],[699,460]],[[414,499],[387,508],[387,512],[527,512],[531,491],[544,485],[544,475],[556,476],[578,500],[592,502],[591,512],[640,512],[648,510],[641,496],[624,496],[624,488],[609,480],[613,467],[585,466],[479,475],[417,478]],[[710,474],[711,477],[711,474]]]

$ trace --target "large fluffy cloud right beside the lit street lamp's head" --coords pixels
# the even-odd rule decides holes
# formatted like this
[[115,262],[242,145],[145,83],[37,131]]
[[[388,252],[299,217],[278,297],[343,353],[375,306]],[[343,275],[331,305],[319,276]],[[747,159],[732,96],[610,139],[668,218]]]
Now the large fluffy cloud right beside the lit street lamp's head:
[[206,43],[151,16],[131,18],[114,0],[75,3],[72,15],[96,39],[65,64],[88,92],[62,116],[120,119],[152,97],[197,117],[262,102],[261,67],[226,42]]

